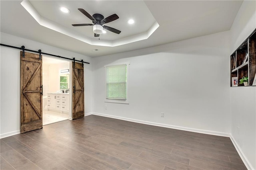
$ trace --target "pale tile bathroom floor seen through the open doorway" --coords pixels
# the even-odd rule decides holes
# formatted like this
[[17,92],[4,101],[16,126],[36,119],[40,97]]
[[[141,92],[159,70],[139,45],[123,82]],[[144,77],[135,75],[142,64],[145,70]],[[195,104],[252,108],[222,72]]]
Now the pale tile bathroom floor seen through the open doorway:
[[64,121],[68,119],[68,113],[60,113],[56,111],[43,111],[43,125],[56,123],[58,121]]

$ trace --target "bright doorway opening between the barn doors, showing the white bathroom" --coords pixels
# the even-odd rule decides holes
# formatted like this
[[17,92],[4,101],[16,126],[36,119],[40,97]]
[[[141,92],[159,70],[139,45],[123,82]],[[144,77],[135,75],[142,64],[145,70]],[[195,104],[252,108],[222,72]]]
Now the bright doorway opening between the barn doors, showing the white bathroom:
[[72,119],[71,62],[42,57],[43,125]]

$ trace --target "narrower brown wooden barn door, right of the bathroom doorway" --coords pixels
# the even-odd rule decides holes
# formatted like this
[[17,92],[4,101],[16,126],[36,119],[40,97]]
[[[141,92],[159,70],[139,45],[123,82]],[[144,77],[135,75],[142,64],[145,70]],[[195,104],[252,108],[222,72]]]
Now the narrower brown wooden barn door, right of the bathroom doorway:
[[72,62],[72,119],[84,117],[84,67]]

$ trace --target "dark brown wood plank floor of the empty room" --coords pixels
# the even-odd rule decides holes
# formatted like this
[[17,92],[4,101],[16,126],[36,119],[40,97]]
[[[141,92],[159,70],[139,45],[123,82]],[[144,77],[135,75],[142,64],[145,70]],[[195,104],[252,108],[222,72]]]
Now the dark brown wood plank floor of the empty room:
[[1,170],[244,170],[228,137],[96,115],[0,140]]

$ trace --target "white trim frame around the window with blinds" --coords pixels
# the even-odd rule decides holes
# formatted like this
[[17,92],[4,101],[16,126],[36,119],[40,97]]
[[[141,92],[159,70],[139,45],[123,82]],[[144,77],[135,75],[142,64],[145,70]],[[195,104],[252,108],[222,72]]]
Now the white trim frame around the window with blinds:
[[[108,99],[106,96],[106,67],[107,66],[116,66],[116,65],[122,65],[122,64],[126,64],[126,100],[120,100],[120,99]],[[105,65],[104,66],[104,73],[105,73],[105,80],[104,80],[104,87],[105,87],[105,102],[109,102],[109,103],[121,103],[121,104],[129,104],[129,66],[130,63],[114,63],[114,64],[109,64],[109,65]]]

